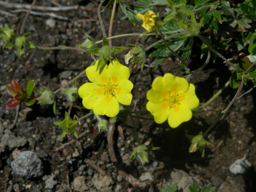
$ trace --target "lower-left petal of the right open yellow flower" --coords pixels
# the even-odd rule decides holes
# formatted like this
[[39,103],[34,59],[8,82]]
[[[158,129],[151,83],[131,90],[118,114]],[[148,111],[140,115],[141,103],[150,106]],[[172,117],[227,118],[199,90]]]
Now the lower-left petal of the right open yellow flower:
[[166,102],[152,103],[148,101],[146,108],[154,116],[154,120],[158,124],[164,123],[170,114],[170,107]]

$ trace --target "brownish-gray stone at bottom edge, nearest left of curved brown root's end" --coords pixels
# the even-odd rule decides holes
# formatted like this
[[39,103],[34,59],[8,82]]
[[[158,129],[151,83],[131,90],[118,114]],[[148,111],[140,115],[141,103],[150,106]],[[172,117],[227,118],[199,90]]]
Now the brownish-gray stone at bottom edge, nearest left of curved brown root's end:
[[95,173],[92,178],[92,183],[101,192],[110,192],[112,191],[113,180],[108,176],[101,176],[98,173]]

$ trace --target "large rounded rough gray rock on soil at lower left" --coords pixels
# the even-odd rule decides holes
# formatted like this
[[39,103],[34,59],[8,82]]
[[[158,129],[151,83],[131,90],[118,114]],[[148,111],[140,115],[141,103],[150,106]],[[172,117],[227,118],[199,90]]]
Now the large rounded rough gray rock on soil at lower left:
[[43,175],[43,164],[33,151],[23,151],[11,162],[14,174],[31,179]]

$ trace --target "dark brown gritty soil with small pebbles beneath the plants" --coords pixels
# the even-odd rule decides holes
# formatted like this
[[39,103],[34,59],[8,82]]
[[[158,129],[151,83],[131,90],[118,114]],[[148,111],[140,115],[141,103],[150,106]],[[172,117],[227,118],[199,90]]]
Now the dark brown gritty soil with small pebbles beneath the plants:
[[[31,4],[32,1],[12,0],[8,2]],[[55,6],[51,2],[50,0],[37,1],[36,5]],[[54,2],[58,2],[62,6],[79,4],[85,6],[86,9],[54,12],[56,15],[68,17],[69,20],[30,15],[25,27],[25,32],[31,32],[31,36],[28,38],[30,41],[37,46],[66,45],[77,47],[85,39],[85,32],[96,41],[102,39],[97,16],[98,0],[58,0]],[[15,8],[3,6],[1,10],[11,12]],[[107,31],[110,12],[111,10],[107,9],[102,14]],[[14,26],[15,32],[18,34],[26,13],[15,14],[17,14],[15,17],[0,15],[0,27],[3,27],[4,24],[8,24],[9,27]],[[144,32],[140,26],[135,29],[131,22],[120,21],[122,16],[123,13],[118,12],[113,25],[113,36]],[[52,22],[53,25],[49,27],[46,21]],[[196,44],[200,44],[198,39],[195,41],[198,42]],[[126,44],[147,46],[153,42],[154,38],[137,38],[134,36],[112,40],[113,46]],[[2,40],[0,40],[0,45],[3,45]],[[200,50],[195,47],[193,57],[188,64],[189,68],[196,69],[202,65],[204,61],[196,59],[199,54]],[[223,54],[225,55],[225,53]],[[124,64],[123,55],[124,52],[119,53],[117,58]],[[161,66],[151,68],[148,66],[153,58],[147,58],[148,65],[144,67],[142,72],[140,67],[131,71],[130,80],[133,82],[134,88],[130,109],[134,111],[146,110],[146,93],[156,76],[163,76],[168,72],[176,76],[185,75],[184,71],[173,60],[168,60]],[[56,97],[56,115],[52,111],[52,106],[36,104],[27,107],[21,103],[18,121],[14,128],[10,129],[10,125],[15,119],[16,108],[6,108],[7,101],[11,99],[6,91],[6,84],[10,83],[13,78],[20,83],[22,88],[25,88],[27,81],[33,78],[37,82],[36,89],[41,89],[41,85],[44,85],[54,91],[61,84],[66,83],[90,66],[92,61],[90,54],[74,50],[26,49],[21,58],[18,58],[15,48],[0,50],[0,140],[4,134],[8,138],[14,136],[25,140],[23,145],[13,147],[4,145],[3,140],[1,140],[2,145],[0,142],[0,191],[141,191],[139,188],[133,188],[121,176],[120,167],[118,168],[115,166],[116,164],[111,162],[108,153],[108,133],[98,132],[97,121],[94,116],[81,122],[79,139],[74,139],[71,134],[60,139],[62,129],[54,125],[53,122],[61,121],[65,111],[68,111],[68,107],[66,107],[68,101],[61,93],[58,93]],[[195,84],[200,103],[209,100],[228,81],[230,74],[230,69],[222,60],[217,60],[214,64],[211,61],[206,69],[196,73],[190,83]],[[77,85],[80,86],[86,81],[87,78],[83,76],[78,79]],[[250,87],[252,84],[249,82],[242,92],[248,91]],[[185,171],[201,186],[211,182],[213,186],[217,187],[217,191],[256,191],[256,172],[253,168],[244,175],[234,175],[229,171],[229,166],[236,159],[244,156],[247,156],[253,167],[256,165],[256,131],[255,123],[253,123],[256,116],[255,90],[236,100],[229,112],[208,134],[206,139],[212,145],[206,147],[204,158],[200,156],[199,152],[188,152],[190,143],[185,134],[196,135],[200,131],[206,131],[220,115],[220,111],[226,108],[235,93],[236,90],[228,87],[209,106],[194,114],[190,121],[181,124],[176,129],[171,129],[167,123],[156,124],[153,120],[135,119],[141,143],[146,142],[150,146],[160,147],[159,150],[149,152],[150,161],[145,165],[141,165],[137,159],[128,160],[133,149],[137,146],[132,123],[128,120],[122,129],[120,128],[121,122],[117,122],[113,142],[119,165],[127,174],[151,183],[144,191],[159,191],[171,181],[170,175],[173,169]],[[85,109],[82,106],[82,100],[78,99],[71,109],[70,116],[81,117],[87,113],[89,110]],[[152,119],[150,114],[141,114],[140,116]],[[93,133],[92,128],[96,134]],[[54,153],[69,141],[72,141],[71,145],[58,153]],[[43,162],[44,175],[42,177],[24,179],[12,172],[11,162],[18,153],[27,150],[36,152]],[[97,165],[106,174],[96,170],[92,164]],[[142,177],[143,174],[149,176]],[[54,175],[52,180],[56,182],[52,188],[47,188],[45,181],[52,175]],[[106,175],[110,177],[105,177]],[[87,187],[83,188],[75,184],[74,180],[77,178],[83,178]],[[106,178],[110,178],[108,184],[106,184],[107,181],[105,182]],[[186,190],[180,189],[180,191]]]

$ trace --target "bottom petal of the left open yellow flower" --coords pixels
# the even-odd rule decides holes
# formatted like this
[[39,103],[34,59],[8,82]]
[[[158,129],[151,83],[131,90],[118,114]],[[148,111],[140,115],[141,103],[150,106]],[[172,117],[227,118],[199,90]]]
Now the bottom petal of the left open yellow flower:
[[118,101],[110,94],[100,97],[93,106],[93,113],[114,117],[119,113]]

